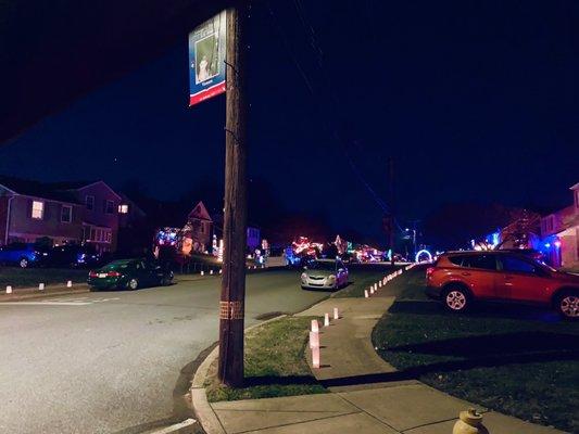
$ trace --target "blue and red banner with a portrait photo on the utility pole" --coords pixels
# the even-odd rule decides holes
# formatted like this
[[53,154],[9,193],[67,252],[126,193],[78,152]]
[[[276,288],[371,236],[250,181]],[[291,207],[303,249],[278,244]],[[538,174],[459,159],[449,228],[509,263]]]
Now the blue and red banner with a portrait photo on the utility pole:
[[225,92],[225,11],[189,34],[189,106]]

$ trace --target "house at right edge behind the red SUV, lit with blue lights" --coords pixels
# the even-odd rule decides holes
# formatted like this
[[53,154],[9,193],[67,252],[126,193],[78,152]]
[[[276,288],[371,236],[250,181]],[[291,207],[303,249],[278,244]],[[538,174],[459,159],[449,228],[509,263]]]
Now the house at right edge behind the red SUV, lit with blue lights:
[[572,204],[541,219],[543,252],[555,267],[579,268],[579,182],[569,189]]

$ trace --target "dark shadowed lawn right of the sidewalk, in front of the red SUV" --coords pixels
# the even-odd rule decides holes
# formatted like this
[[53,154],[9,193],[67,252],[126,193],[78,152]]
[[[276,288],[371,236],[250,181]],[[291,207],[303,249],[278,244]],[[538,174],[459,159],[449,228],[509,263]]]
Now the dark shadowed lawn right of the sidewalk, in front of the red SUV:
[[579,433],[579,323],[499,305],[453,316],[417,291],[421,276],[408,273],[407,288],[376,326],[378,354],[451,395]]

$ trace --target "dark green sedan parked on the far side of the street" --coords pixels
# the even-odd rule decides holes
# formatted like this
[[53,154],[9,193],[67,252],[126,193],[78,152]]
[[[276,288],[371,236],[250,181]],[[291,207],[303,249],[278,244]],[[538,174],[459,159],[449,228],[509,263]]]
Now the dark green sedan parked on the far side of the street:
[[88,273],[88,284],[95,290],[136,290],[141,286],[169,285],[173,271],[146,259],[113,260]]

